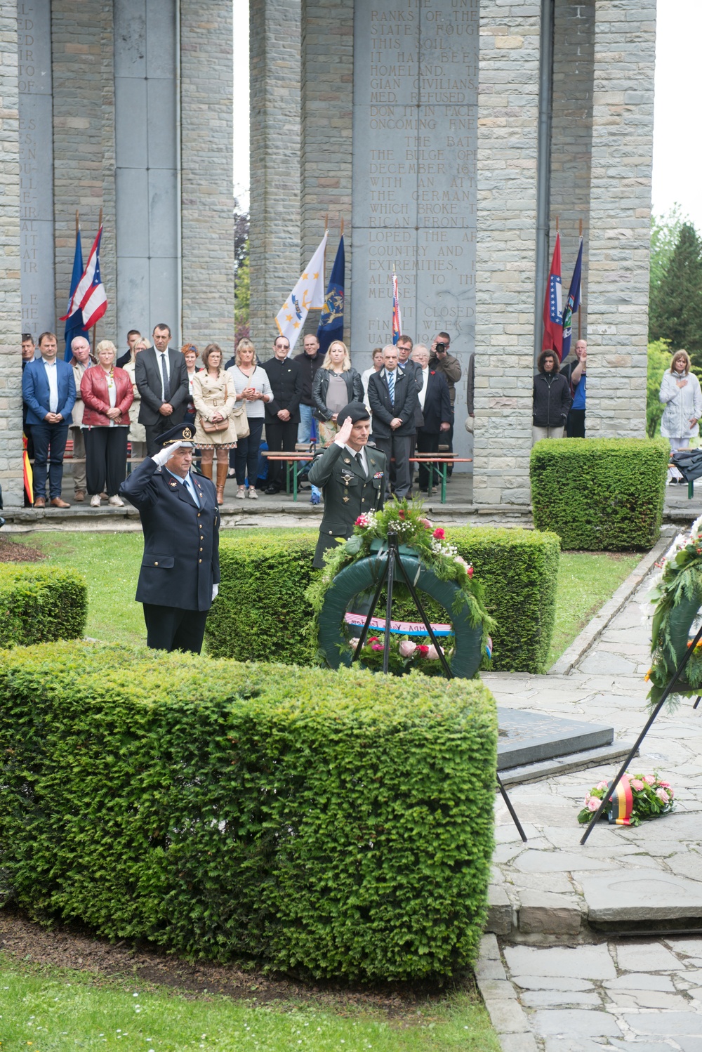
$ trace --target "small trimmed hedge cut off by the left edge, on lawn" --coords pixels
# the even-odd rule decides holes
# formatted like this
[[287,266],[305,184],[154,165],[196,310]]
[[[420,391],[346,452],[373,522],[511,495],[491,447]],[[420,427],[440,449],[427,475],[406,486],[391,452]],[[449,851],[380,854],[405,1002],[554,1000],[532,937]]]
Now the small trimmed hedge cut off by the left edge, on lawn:
[[87,586],[76,570],[0,564],[0,647],[78,639]]

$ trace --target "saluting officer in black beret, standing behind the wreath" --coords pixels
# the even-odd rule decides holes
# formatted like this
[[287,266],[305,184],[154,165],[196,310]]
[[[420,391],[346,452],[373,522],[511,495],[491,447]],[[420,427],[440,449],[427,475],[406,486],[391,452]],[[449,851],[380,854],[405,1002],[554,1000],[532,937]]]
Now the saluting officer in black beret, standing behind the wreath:
[[350,538],[359,514],[377,511],[385,503],[386,456],[367,447],[371,421],[363,402],[349,402],[338,412],[339,431],[332,444],[314,458],[309,480],[324,490],[324,518],[313,566],[324,566],[324,553],[335,548],[335,538]]

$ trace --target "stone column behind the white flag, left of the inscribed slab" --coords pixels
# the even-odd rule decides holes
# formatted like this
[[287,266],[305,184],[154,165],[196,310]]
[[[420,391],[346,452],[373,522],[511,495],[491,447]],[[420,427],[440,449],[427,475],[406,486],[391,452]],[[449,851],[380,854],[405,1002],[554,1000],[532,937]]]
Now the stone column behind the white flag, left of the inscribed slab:
[[[302,5],[302,247],[310,259],[329,216],[327,275],[345,220],[346,289],[344,324],[351,324],[351,139],[353,100],[353,3],[303,0]],[[365,294],[364,294],[365,295]],[[319,311],[306,325],[316,332]]]

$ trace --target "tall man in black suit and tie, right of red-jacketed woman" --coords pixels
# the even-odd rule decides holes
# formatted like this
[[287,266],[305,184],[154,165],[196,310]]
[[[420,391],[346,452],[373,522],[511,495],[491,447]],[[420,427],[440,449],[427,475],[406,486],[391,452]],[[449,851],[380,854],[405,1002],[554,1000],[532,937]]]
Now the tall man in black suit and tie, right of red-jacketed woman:
[[185,356],[168,346],[170,329],[160,322],[153,329],[153,346],[135,359],[135,381],[142,397],[139,423],[146,431],[146,452],[160,448],[159,439],[181,424],[188,404],[188,370]]

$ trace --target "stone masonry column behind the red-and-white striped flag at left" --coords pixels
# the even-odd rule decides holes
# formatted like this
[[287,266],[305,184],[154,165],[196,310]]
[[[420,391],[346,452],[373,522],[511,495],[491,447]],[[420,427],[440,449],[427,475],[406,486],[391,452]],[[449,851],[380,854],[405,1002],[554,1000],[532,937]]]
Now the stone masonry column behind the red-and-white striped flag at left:
[[83,261],[98,232],[103,209],[100,270],[107,311],[97,339],[121,341],[116,332],[117,247],[115,222],[115,101],[112,4],[110,0],[54,0],[54,208],[56,237],[56,326],[59,347],[80,211]]

